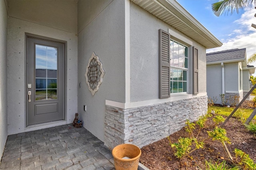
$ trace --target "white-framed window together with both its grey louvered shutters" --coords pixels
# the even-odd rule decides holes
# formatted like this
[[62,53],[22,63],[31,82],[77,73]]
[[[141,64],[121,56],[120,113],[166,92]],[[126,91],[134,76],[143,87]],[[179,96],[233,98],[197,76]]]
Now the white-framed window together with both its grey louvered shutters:
[[[176,39],[171,40],[170,33],[159,30],[160,99],[170,97],[171,93],[198,94],[198,49],[192,46],[193,43],[190,40],[180,34],[173,31],[171,33],[189,46],[183,45]],[[189,74],[190,71],[192,73]],[[189,81],[188,75],[192,75]]]

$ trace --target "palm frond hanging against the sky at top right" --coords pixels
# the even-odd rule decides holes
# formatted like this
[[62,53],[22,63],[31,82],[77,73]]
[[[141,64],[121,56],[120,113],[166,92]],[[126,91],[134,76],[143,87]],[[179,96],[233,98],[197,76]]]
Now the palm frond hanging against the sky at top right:
[[222,0],[212,4],[212,11],[216,16],[228,12],[233,14],[235,11],[238,13],[240,9],[251,6],[253,2],[255,4],[256,0]]

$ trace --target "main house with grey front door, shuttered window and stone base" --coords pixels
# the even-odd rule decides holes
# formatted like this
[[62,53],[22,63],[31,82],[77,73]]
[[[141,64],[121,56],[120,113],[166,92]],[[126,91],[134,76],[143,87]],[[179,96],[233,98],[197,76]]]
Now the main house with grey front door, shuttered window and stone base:
[[207,111],[206,48],[222,43],[174,0],[1,0],[0,16],[0,155],[75,113],[112,149]]

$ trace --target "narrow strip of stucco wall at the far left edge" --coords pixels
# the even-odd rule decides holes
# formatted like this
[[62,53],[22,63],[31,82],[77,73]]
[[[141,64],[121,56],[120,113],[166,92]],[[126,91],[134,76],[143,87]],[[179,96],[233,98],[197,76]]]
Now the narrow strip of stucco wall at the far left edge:
[[7,10],[0,1],[0,160],[7,138]]

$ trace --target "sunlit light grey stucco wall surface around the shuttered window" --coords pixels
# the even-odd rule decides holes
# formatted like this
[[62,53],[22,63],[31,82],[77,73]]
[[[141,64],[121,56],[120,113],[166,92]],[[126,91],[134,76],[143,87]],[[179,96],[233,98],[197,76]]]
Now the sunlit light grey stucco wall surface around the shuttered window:
[[[158,30],[174,30],[146,10],[130,2],[130,101],[158,99]],[[206,92],[206,48],[193,42],[198,49],[198,90]],[[191,57],[189,58],[191,63]],[[189,66],[191,71],[191,64]],[[192,80],[192,74],[188,75]],[[188,82],[191,84],[191,81]],[[189,93],[192,86],[188,85]]]

